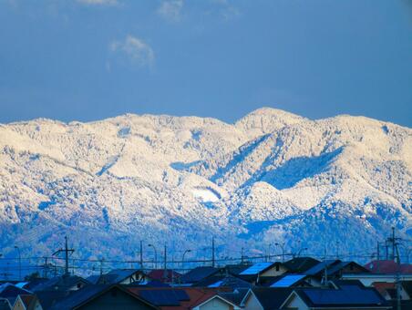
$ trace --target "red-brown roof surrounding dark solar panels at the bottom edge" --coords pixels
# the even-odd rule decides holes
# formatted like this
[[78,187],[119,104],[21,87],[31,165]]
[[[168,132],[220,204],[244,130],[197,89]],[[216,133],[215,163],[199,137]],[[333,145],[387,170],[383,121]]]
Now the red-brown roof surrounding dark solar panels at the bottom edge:
[[142,290],[165,290],[165,289],[170,289],[170,290],[183,290],[188,294],[190,300],[188,301],[180,301],[180,305],[177,306],[160,306],[161,310],[188,310],[191,309],[195,305],[200,305],[201,303],[205,302],[215,294],[217,294],[214,291],[211,290],[202,290],[200,288],[194,288],[194,287],[128,287],[129,291],[138,294]]

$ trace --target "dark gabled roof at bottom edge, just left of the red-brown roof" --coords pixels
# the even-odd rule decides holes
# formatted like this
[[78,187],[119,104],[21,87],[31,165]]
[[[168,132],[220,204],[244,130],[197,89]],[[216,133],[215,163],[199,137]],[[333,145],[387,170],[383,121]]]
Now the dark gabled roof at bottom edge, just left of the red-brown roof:
[[128,289],[125,289],[118,284],[97,284],[85,286],[82,289],[75,291],[73,294],[69,294],[66,298],[61,299],[50,309],[77,309],[78,307],[88,304],[91,300],[98,298],[98,296],[105,294],[110,290],[120,290],[131,295],[135,299],[138,299],[141,303],[156,309],[156,307],[153,304],[150,304],[146,299],[142,299],[139,295],[133,294]]

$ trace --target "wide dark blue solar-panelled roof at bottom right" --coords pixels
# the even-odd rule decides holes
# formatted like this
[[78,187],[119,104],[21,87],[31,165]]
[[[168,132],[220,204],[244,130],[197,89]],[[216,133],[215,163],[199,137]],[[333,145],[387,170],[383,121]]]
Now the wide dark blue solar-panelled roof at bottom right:
[[374,288],[341,285],[340,289],[309,288],[294,291],[310,307],[386,306],[386,300]]

